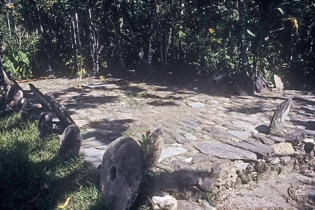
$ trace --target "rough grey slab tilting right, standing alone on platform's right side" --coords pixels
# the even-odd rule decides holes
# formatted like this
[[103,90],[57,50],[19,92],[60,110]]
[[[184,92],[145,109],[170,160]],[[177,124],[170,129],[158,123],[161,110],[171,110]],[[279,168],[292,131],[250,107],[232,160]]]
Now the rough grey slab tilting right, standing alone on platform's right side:
[[291,102],[292,97],[289,97],[284,102],[279,104],[270,122],[269,134],[275,134],[281,131],[285,119],[289,114]]

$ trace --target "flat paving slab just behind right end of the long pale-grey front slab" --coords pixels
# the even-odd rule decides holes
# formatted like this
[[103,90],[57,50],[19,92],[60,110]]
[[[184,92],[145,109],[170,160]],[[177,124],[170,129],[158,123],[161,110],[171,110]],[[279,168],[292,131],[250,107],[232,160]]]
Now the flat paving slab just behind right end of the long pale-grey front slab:
[[270,155],[273,153],[273,149],[265,144],[262,144],[260,142],[251,141],[251,140],[243,140],[240,142],[227,142],[228,144],[248,150],[250,152],[253,152],[257,155],[257,158],[262,158],[263,156]]

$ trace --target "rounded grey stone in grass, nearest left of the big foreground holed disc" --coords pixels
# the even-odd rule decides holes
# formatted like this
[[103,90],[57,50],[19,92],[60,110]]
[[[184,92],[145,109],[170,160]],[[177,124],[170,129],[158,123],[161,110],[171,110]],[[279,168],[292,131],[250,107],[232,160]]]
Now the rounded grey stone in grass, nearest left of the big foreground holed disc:
[[60,140],[58,155],[64,159],[78,156],[82,143],[81,131],[76,125],[69,125]]

